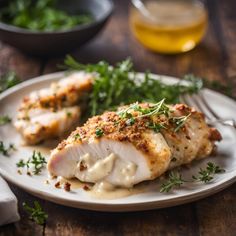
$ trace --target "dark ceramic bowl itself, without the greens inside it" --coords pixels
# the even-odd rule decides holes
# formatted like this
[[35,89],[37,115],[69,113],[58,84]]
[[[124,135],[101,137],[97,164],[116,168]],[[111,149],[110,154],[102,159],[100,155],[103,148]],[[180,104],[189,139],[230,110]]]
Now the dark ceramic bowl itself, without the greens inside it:
[[[2,7],[2,0],[0,1]],[[94,21],[71,30],[34,32],[0,22],[0,40],[36,56],[60,55],[79,48],[105,25],[113,10],[111,0],[59,0],[58,8],[70,14],[89,12]],[[1,9],[0,9],[1,10]]]

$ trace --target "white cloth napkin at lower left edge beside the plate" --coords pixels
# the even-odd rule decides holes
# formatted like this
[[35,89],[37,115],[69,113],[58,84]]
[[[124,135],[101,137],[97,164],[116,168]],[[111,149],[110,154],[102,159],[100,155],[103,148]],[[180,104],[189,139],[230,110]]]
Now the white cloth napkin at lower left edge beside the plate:
[[19,219],[16,196],[0,176],[0,225],[9,224]]

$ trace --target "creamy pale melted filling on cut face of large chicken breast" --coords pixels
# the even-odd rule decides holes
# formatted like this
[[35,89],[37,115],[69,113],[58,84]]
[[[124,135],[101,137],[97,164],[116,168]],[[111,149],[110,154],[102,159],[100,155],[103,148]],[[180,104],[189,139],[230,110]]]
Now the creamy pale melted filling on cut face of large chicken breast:
[[89,153],[80,158],[76,166],[75,177],[80,181],[96,183],[99,188],[113,188],[109,178],[116,178],[115,186],[132,187],[137,165],[130,161],[124,161],[114,153],[105,158],[96,159]]

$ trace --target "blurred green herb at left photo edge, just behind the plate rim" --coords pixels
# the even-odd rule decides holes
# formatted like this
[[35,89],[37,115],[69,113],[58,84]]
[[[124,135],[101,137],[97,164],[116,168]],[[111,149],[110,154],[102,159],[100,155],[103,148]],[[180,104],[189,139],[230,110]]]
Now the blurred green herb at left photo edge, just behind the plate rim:
[[15,72],[10,71],[0,77],[0,93],[20,83],[20,79]]

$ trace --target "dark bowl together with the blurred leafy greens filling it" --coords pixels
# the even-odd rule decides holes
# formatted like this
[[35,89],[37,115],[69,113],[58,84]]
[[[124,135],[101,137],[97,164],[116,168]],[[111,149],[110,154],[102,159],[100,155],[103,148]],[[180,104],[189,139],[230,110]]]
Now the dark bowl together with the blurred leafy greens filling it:
[[46,5],[50,1],[14,0],[7,8],[1,1],[1,18],[7,19],[0,22],[0,40],[31,55],[61,55],[92,39],[113,11],[111,0],[58,0],[57,10]]

